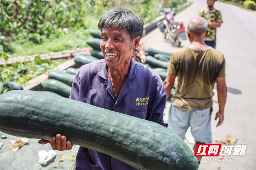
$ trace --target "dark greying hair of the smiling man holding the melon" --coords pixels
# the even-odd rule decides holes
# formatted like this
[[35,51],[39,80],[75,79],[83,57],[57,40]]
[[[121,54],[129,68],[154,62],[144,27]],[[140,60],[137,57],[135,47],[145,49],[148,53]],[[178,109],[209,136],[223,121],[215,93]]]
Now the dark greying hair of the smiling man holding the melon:
[[130,34],[131,41],[133,41],[137,36],[142,37],[144,21],[130,10],[115,8],[102,15],[98,24],[101,31],[111,26],[117,27],[118,30],[126,29]]

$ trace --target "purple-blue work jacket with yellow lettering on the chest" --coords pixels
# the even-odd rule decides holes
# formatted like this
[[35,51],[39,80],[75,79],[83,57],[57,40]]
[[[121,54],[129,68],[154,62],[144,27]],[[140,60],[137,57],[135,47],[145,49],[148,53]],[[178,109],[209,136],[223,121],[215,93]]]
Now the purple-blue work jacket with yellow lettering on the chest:
[[[141,119],[163,123],[166,93],[156,71],[133,61],[120,94],[114,90],[104,59],[83,65],[74,78],[70,99]],[[104,153],[80,147],[74,170],[136,170]]]

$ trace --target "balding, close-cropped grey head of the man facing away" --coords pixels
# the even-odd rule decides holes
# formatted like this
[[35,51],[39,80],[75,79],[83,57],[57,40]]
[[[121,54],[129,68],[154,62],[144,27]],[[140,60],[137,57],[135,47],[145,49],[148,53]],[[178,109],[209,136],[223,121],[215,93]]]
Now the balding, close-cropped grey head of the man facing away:
[[206,33],[207,27],[208,22],[202,17],[193,18],[187,24],[187,30],[197,36],[201,36],[203,33]]

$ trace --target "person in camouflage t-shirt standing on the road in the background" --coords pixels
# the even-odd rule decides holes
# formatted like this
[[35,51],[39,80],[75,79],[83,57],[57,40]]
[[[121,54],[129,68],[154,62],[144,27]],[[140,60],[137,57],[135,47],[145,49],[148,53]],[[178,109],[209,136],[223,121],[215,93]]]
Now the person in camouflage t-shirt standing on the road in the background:
[[203,17],[208,21],[208,34],[204,38],[204,42],[212,46],[216,47],[216,28],[220,27],[222,21],[221,11],[215,9],[213,4],[216,0],[207,0],[207,7],[203,7],[198,14],[198,17]]

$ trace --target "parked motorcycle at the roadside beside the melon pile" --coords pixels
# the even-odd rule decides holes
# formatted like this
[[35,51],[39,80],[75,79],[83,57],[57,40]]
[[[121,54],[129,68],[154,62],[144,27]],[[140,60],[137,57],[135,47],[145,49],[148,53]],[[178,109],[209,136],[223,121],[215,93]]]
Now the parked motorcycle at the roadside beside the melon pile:
[[165,39],[173,40],[175,46],[180,46],[180,40],[186,40],[185,27],[183,26],[184,21],[175,21],[174,15],[178,8],[163,8],[161,15],[164,14],[165,18],[157,23],[160,31],[164,33]]

